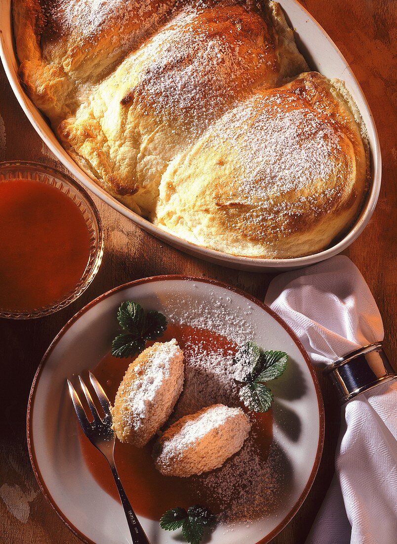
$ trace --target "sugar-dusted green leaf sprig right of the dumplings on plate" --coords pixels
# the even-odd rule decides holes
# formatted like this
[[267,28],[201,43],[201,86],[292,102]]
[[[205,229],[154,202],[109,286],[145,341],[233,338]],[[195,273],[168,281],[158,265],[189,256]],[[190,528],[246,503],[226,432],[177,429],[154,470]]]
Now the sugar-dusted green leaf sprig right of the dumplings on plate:
[[285,351],[262,351],[253,341],[242,345],[235,362],[250,370],[242,381],[241,400],[253,412],[267,412],[273,402],[273,393],[263,382],[276,380],[287,367]]

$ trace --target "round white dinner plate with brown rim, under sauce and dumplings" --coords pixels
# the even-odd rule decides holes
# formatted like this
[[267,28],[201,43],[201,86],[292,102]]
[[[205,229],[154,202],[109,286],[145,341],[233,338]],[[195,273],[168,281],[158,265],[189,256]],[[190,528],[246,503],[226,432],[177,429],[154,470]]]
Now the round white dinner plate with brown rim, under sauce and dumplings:
[[[118,330],[117,308],[124,300],[158,310],[169,322],[192,325],[203,323],[204,316],[209,330],[219,333],[227,324],[236,338],[248,335],[263,349],[288,353],[285,373],[272,382],[272,448],[280,453],[283,474],[275,491],[280,500],[262,520],[217,526],[205,541],[268,542],[298,511],[313,483],[324,440],[322,398],[306,351],[291,329],[259,300],[213,280],[157,276],[127,283],[90,302],[64,326],[37,369],[28,404],[29,454],[42,492],[81,540],[131,542],[121,504],[97,483],[83,459],[66,388],[66,378],[94,368],[109,352]],[[134,497],[129,498],[134,508]],[[181,542],[178,531],[169,533],[158,521],[140,520],[152,544]]]

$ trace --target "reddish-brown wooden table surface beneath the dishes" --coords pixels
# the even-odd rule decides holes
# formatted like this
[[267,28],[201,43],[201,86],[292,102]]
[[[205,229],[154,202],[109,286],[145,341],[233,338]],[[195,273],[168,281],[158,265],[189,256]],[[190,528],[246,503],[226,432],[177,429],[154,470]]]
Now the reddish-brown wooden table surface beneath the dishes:
[[[361,270],[379,306],[386,348],[396,355],[395,337],[395,14],[392,0],[307,0],[302,2],[335,41],[360,82],[374,114],[382,149],[382,189],[366,230],[344,253]],[[394,38],[394,41],[393,41]],[[34,160],[64,168],[31,128],[0,67],[0,160]],[[105,253],[92,285],[74,304],[52,316],[0,319],[0,542],[7,544],[77,543],[40,493],[26,443],[26,408],[31,382],[59,329],[87,302],[112,287],[158,274],[212,277],[263,300],[273,274],[241,272],[187,256],[149,234],[93,197],[103,220]],[[1,234],[0,234],[1,236]],[[394,243],[394,246],[393,246]],[[276,544],[305,541],[333,474],[339,409],[329,384],[322,381],[326,440],[312,490]]]

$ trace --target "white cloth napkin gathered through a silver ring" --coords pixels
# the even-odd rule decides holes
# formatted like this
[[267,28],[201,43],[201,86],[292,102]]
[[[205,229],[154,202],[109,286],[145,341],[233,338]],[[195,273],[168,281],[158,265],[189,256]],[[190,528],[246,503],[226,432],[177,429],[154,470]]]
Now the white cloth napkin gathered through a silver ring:
[[[265,302],[299,337],[315,366],[383,339],[376,302],[348,257],[280,274]],[[397,380],[343,406],[339,443],[336,474],[306,544],[395,544]]]

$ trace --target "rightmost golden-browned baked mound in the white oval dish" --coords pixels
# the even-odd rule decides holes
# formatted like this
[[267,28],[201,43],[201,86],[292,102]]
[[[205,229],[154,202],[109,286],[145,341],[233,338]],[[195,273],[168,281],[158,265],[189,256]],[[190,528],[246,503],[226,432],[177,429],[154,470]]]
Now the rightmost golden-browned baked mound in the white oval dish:
[[354,116],[311,72],[258,90],[169,164],[155,222],[234,255],[311,255],[350,226],[365,182]]

